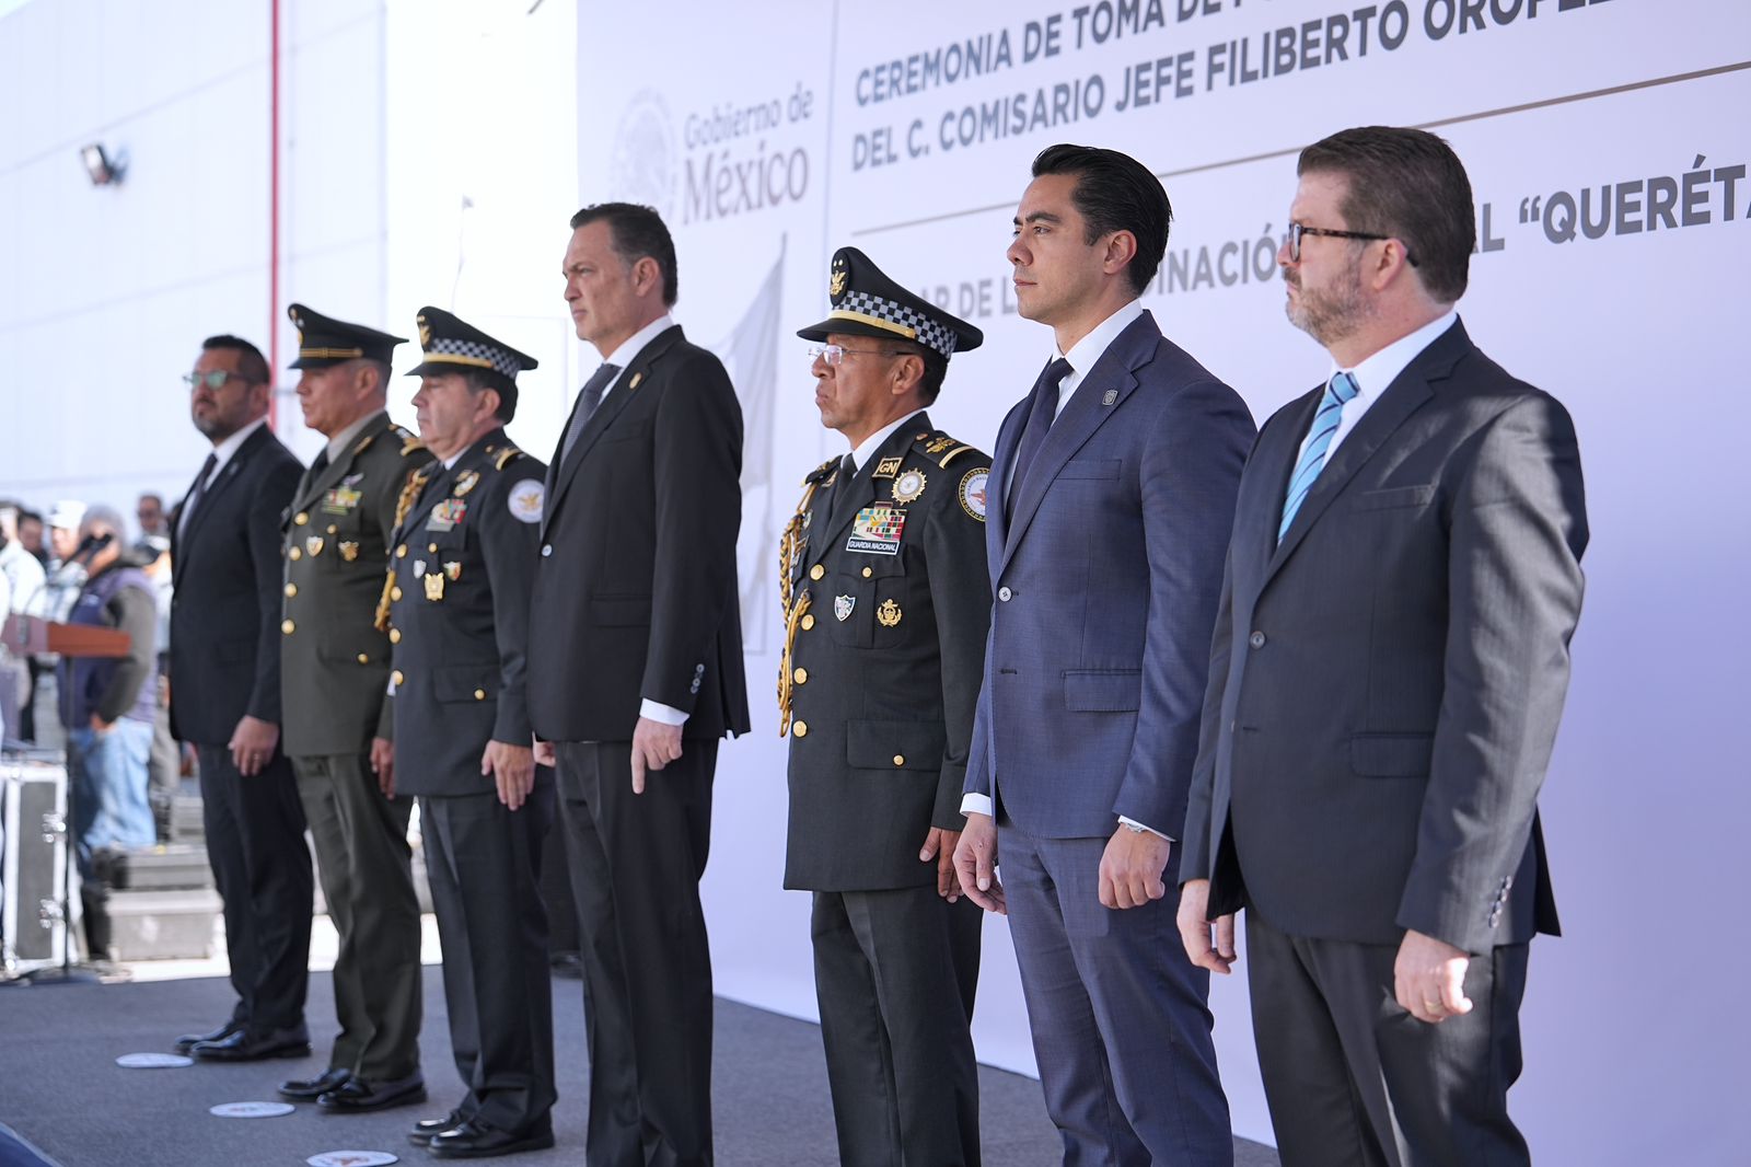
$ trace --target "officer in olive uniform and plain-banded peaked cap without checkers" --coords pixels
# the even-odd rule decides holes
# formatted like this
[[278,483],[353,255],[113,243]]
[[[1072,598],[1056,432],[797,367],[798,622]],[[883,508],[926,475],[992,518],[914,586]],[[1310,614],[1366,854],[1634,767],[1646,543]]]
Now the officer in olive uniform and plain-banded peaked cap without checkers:
[[422,1102],[420,906],[394,789],[389,636],[376,608],[408,475],[431,461],[383,412],[401,336],[291,307],[305,424],[327,436],[292,496],[280,624],[284,748],[340,934],[327,1072],[280,1086],[336,1113]]

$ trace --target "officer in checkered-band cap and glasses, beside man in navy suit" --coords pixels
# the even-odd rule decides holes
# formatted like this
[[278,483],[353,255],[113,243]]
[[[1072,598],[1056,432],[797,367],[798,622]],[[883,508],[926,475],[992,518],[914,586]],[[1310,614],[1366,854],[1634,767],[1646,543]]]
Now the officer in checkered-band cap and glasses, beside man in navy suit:
[[991,619],[991,459],[925,407],[984,336],[851,247],[828,287],[798,335],[826,342],[814,401],[853,452],[807,477],[781,548],[784,887],[814,892],[840,1160],[970,1165],[981,918],[949,860]]

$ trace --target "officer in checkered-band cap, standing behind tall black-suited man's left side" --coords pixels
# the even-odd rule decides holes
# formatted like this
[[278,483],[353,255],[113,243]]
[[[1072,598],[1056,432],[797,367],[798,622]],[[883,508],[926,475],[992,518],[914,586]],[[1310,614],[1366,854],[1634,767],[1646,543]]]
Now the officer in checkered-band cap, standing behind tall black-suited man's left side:
[[396,773],[420,799],[450,1050],[462,1102],[410,1132],[440,1158],[553,1146],[553,980],[541,838],[553,771],[534,764],[524,701],[529,582],[546,466],[511,445],[517,373],[536,366],[440,308],[422,308],[413,396],[434,459],[397,515]]

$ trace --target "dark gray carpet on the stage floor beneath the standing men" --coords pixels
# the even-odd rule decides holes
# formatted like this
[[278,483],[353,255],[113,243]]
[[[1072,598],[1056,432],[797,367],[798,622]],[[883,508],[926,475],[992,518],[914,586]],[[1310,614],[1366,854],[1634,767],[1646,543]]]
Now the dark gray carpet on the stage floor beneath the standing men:
[[[560,1100],[557,1146],[506,1162],[581,1163],[585,1123],[583,1001],[578,981],[553,983]],[[168,1051],[177,1034],[205,1030],[229,1013],[224,981],[0,988],[0,1123],[63,1167],[208,1167],[303,1163],[338,1149],[390,1151],[432,1162],[408,1146],[415,1118],[443,1114],[461,1095],[450,1062],[440,971],[425,969],[422,1048],[431,1102],[380,1114],[331,1116],[301,1106],[284,1118],[224,1120],[219,1102],[278,1100],[285,1078],[317,1074],[334,1036],[329,978],[310,978],[317,1057],[247,1065],[124,1071],[123,1053]],[[830,1165],[839,1160],[818,1027],[718,1002],[713,1074],[721,1167]],[[1030,1078],[981,1069],[981,1125],[991,1167],[1059,1162],[1058,1134]],[[1240,1167],[1276,1167],[1276,1153],[1236,1139]]]

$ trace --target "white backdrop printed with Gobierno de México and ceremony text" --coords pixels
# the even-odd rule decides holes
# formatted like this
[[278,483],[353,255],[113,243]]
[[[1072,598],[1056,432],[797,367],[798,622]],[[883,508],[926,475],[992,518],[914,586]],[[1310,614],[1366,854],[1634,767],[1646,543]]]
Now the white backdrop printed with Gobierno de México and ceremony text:
[[[1453,142],[1476,193],[1466,324],[1572,410],[1593,526],[1543,799],[1569,934],[1534,946],[1515,1111],[1544,1162],[1742,1162],[1751,403],[1730,305],[1751,259],[1751,5],[651,2],[585,5],[578,40],[581,202],[664,214],[678,319],[723,356],[748,421],[756,731],[720,760],[720,992],[814,1016],[807,897],[779,888],[776,540],[802,475],[844,452],[793,335],[826,307],[833,249],[986,331],[932,415],[989,449],[1052,345],[1016,314],[1003,259],[1030,161],[1054,142],[1131,152],[1175,209],[1145,305],[1262,422],[1327,368],[1285,322],[1275,266],[1297,151],[1415,124]],[[1212,1008],[1236,1132],[1269,1139],[1243,974]],[[984,1060],[1033,1071],[1002,922],[975,1036]]]

